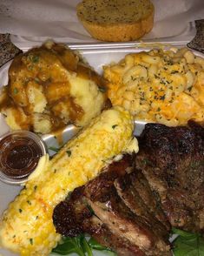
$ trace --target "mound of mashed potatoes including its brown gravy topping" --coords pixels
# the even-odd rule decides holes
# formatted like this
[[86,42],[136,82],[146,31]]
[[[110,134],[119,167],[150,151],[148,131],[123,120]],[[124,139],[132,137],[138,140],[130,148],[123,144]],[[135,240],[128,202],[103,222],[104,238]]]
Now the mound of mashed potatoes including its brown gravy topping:
[[106,103],[102,77],[63,44],[48,43],[13,60],[0,110],[12,130],[48,133],[87,125]]

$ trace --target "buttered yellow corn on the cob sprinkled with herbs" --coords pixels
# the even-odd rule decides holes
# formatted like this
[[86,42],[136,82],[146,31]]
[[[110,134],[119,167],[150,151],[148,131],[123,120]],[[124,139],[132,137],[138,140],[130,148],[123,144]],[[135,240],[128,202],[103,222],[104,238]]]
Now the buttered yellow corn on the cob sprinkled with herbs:
[[126,152],[128,145],[132,149],[133,129],[128,111],[115,107],[103,111],[64,145],[44,170],[34,172],[3,213],[1,246],[23,256],[48,255],[61,239],[52,223],[54,207],[68,192],[95,178],[109,159]]

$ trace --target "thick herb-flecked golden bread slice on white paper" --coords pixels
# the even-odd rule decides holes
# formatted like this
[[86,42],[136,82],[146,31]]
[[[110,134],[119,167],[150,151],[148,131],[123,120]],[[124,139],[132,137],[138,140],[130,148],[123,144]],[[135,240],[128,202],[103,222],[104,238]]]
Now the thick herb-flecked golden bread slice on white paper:
[[154,5],[149,0],[84,0],[77,17],[95,39],[133,41],[153,28]]

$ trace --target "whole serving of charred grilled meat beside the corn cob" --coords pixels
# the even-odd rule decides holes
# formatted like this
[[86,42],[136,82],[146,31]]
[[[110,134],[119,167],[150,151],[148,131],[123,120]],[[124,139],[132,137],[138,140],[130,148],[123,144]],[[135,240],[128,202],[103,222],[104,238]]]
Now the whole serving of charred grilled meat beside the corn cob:
[[204,230],[204,129],[148,124],[124,155],[56,206],[56,232],[87,232],[118,255],[171,255],[171,226]]

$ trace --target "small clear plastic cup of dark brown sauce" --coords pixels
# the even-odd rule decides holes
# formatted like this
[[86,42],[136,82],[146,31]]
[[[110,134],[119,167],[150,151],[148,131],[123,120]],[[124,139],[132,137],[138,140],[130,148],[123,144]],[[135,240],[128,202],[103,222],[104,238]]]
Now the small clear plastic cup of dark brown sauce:
[[0,179],[8,184],[24,183],[43,155],[43,140],[30,131],[12,131],[0,138]]

